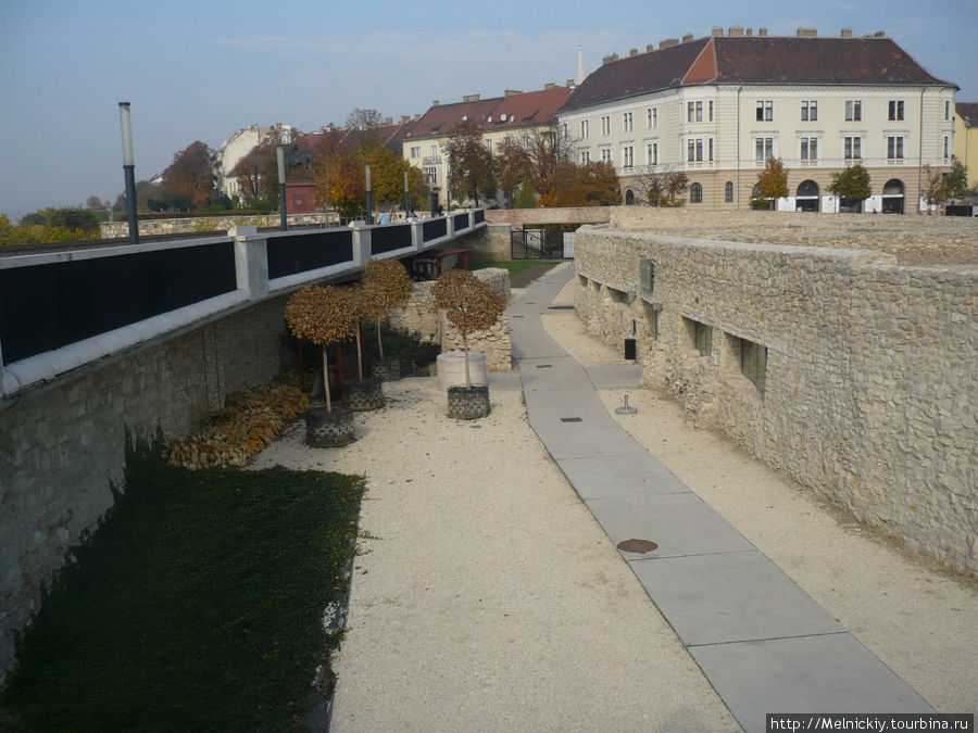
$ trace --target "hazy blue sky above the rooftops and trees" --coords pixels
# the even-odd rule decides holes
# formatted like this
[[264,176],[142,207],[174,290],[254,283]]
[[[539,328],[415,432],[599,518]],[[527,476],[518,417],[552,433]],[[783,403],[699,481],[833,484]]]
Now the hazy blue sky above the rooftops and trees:
[[578,42],[587,74],[610,53],[731,25],[886,30],[957,84],[958,101],[978,101],[978,0],[0,0],[0,212],[114,201],[120,101],[133,104],[143,179],[195,140],[217,148],[253,123],[311,131],[355,108],[414,115],[435,99],[563,84]]

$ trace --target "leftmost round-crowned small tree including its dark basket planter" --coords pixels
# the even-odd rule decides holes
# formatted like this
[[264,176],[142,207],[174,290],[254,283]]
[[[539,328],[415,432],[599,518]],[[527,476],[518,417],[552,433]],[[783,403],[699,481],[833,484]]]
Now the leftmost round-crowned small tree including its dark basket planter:
[[305,442],[314,447],[338,447],[356,440],[353,413],[348,407],[334,409],[329,396],[329,362],[326,346],[346,341],[356,333],[359,316],[352,295],[340,288],[311,286],[289,298],[286,320],[292,333],[318,344],[323,350],[325,407],[305,413]]

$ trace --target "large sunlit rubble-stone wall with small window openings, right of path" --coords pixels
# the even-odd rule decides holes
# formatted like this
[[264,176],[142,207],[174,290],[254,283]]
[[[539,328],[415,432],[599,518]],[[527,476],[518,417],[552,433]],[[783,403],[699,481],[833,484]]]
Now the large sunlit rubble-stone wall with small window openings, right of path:
[[637,339],[647,386],[978,576],[978,268],[611,227],[582,229],[576,255],[578,314],[616,349]]

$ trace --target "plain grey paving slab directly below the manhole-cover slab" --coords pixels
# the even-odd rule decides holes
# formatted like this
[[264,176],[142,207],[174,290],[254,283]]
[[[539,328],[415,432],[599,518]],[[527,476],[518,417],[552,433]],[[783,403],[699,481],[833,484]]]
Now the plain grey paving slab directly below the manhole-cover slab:
[[629,565],[686,645],[844,631],[757,551]]

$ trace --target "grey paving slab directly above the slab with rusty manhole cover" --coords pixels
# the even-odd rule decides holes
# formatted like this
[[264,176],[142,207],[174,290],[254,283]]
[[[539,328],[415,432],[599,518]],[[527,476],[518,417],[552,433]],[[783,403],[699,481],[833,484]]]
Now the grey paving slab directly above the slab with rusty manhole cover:
[[648,451],[629,452],[627,460],[623,460],[623,455],[626,454],[563,458],[557,460],[557,466],[584,500],[609,500],[614,505],[616,501],[627,501],[636,495],[692,493]]

